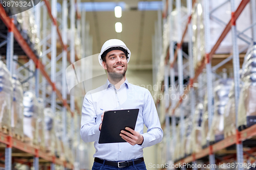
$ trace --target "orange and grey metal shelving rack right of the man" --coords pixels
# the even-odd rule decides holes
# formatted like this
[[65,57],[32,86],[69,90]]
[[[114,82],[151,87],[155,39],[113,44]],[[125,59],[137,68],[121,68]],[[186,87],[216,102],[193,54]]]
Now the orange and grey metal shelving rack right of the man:
[[[177,22],[176,25],[178,26],[178,42],[177,42],[177,48],[176,51],[174,53],[174,40],[172,37],[172,34],[170,34],[169,36],[169,47],[167,49],[163,49],[163,52],[159,52],[156,51],[156,48],[162,48],[162,46],[160,45],[156,45],[157,42],[159,41],[159,39],[161,40],[160,36],[162,36],[162,34],[156,34],[155,41],[153,42],[153,51],[154,51],[154,55],[155,57],[157,56],[161,56],[164,55],[165,57],[165,71],[164,71],[164,79],[163,80],[158,80],[160,82],[164,81],[164,85],[166,85],[168,83],[168,77],[170,77],[170,85],[174,86],[176,84],[179,85],[183,85],[182,82],[180,80],[183,80],[183,74],[182,74],[182,53],[181,53],[181,46],[183,43],[183,39],[185,37],[186,34],[188,34],[188,56],[189,56],[189,82],[188,82],[188,86],[193,86],[194,82],[196,82],[202,72],[203,69],[206,70],[206,76],[207,76],[207,93],[208,93],[208,113],[209,113],[209,117],[208,117],[208,126],[210,129],[211,126],[211,122],[212,122],[212,117],[213,117],[213,112],[212,112],[212,98],[213,98],[213,88],[212,88],[212,76],[216,75],[216,69],[218,69],[220,66],[224,65],[225,63],[227,63],[228,61],[230,61],[231,59],[233,60],[233,75],[234,75],[234,86],[235,86],[235,101],[236,101],[236,117],[238,117],[238,100],[239,100],[239,84],[240,84],[240,76],[239,76],[239,69],[240,69],[240,61],[239,61],[239,54],[241,52],[244,52],[248,46],[250,44],[252,44],[252,42],[255,42],[256,40],[256,26],[255,26],[255,22],[256,22],[256,13],[255,13],[255,0],[242,0],[240,5],[238,6],[237,9],[234,8],[234,1],[230,0],[227,1],[225,3],[223,3],[222,5],[230,2],[231,5],[231,19],[229,20],[228,23],[225,23],[225,29],[223,30],[221,36],[219,37],[218,41],[216,42],[216,44],[214,45],[214,47],[210,47],[210,16],[213,17],[211,15],[211,11],[209,11],[209,5],[208,5],[208,1],[207,0],[203,0],[203,16],[204,16],[204,36],[205,36],[205,55],[203,56],[202,60],[200,61],[200,63],[198,64],[197,68],[194,68],[194,64],[193,64],[193,58],[192,58],[192,27],[191,27],[191,17],[192,17],[192,12],[194,9],[194,4],[197,1],[193,1],[192,0],[187,0],[186,4],[187,4],[187,23],[185,26],[185,31],[183,32],[183,35],[181,35],[181,22]],[[244,8],[246,7],[246,5],[248,3],[251,3],[251,14],[252,14],[252,25],[248,27],[252,28],[252,35],[253,37],[251,38],[252,42],[248,42],[247,44],[248,46],[246,48],[243,48],[239,51],[238,48],[238,44],[237,44],[237,39],[242,39],[244,40],[240,35],[243,34],[243,32],[238,32],[237,28],[236,28],[236,20],[238,19],[238,17],[240,16],[241,12],[244,10]],[[173,0],[168,0],[168,1],[163,1],[163,4],[165,5],[163,7],[163,24],[166,23],[166,16],[167,14],[170,16],[170,13],[173,11]],[[178,15],[180,13],[180,5],[181,4],[181,0],[176,0],[176,10],[178,12]],[[218,10],[221,6],[217,7],[214,10]],[[180,17],[178,17],[180,18]],[[170,18],[169,18],[170,19]],[[215,18],[216,19],[216,18]],[[218,19],[218,18],[217,18]],[[178,19],[180,20],[180,19]],[[158,23],[158,30],[161,29],[161,22]],[[222,25],[224,23],[221,23]],[[173,26],[172,26],[172,22],[170,22],[169,25],[169,30],[173,30]],[[226,35],[228,34],[228,32],[231,30],[231,35],[232,35],[232,55],[230,55],[229,57],[227,57],[226,59],[224,59],[222,62],[218,63],[216,66],[212,67],[211,66],[211,60],[213,58],[213,55],[215,54],[215,52],[217,51],[217,48],[220,46],[221,42],[223,41],[223,39],[226,37]],[[247,30],[247,29],[246,29]],[[239,33],[239,34],[238,34]],[[246,42],[246,41],[245,41]],[[160,43],[159,43],[160,44]],[[166,50],[166,51],[165,51]],[[176,62],[176,59],[178,58],[178,81],[179,83],[175,82],[175,68],[174,68],[174,64]],[[160,68],[161,67],[161,61],[160,64],[156,63],[156,65],[154,65],[155,67]],[[155,68],[155,70],[158,70],[158,68]],[[200,80],[198,80],[200,81]],[[156,83],[156,82],[154,82]],[[194,90],[190,90],[191,88],[188,88],[187,90],[180,91],[181,94],[190,94],[190,114],[193,117],[193,114],[195,113],[195,91]],[[200,90],[200,89],[199,89]],[[164,92],[165,93],[169,93],[168,92],[168,88],[164,88]],[[170,91],[170,95],[174,94],[175,90]],[[171,99],[169,99],[171,100]],[[159,100],[158,100],[159,102]],[[203,149],[202,151],[200,151],[200,153],[193,153],[190,156],[187,156],[185,158],[182,158],[180,160],[176,160],[176,162],[174,162],[174,158],[172,157],[172,153],[170,153],[169,147],[170,145],[172,145],[172,147],[175,146],[175,142],[176,142],[176,118],[175,118],[175,111],[178,108],[182,107],[182,103],[183,100],[182,98],[180,98],[177,102],[176,101],[172,101],[171,105],[168,105],[164,114],[165,114],[165,122],[162,123],[162,127],[165,128],[166,132],[166,162],[168,163],[175,163],[175,164],[182,164],[182,163],[190,163],[192,162],[193,164],[196,163],[197,160],[208,156],[208,160],[209,160],[209,164],[216,164],[216,159],[215,159],[215,153],[217,151],[220,151],[222,149],[225,149],[227,147],[230,147],[233,144],[236,144],[236,148],[237,148],[237,152],[236,155],[233,155],[233,157],[237,158],[237,162],[238,163],[243,163],[244,162],[244,156],[245,157],[250,157],[248,156],[248,154],[246,152],[243,152],[243,141],[247,140],[251,137],[254,137],[256,135],[256,125],[253,125],[243,131],[238,131],[236,132],[236,135],[232,135],[229,136],[227,138],[224,138],[223,140],[215,143],[215,144],[211,144],[208,145],[207,148]],[[170,122],[169,122],[169,117],[172,117],[172,136],[173,139],[170,140]],[[182,122],[184,121],[184,115],[181,114],[180,117],[180,123],[182,124]],[[236,118],[236,122],[238,123],[238,118]],[[238,125],[238,124],[237,124]],[[237,127],[238,128],[238,127]],[[184,129],[181,129],[181,131],[183,131]],[[184,131],[183,131],[184,132]],[[182,132],[181,132],[182,133]],[[253,149],[252,149],[253,150]],[[196,169],[196,168],[193,168]],[[212,166],[210,169],[214,169]],[[239,167],[239,169],[241,169]]]

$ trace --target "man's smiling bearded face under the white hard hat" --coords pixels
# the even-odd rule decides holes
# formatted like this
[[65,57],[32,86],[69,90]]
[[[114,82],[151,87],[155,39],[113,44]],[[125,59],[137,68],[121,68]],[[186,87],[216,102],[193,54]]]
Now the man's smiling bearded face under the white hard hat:
[[115,72],[118,75],[125,77],[127,70],[127,59],[125,54],[120,50],[113,50],[106,54],[105,61],[102,62],[102,66],[108,72]]

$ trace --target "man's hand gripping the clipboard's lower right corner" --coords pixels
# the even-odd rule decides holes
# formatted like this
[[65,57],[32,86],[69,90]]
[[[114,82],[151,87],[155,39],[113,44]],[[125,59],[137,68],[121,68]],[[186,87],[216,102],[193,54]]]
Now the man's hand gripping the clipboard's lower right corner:
[[128,142],[132,145],[143,143],[143,140],[144,140],[143,136],[139,132],[136,132],[136,131],[132,130],[131,128],[128,128],[128,127],[126,127],[125,130],[130,131],[132,133],[131,134],[131,133],[123,131],[123,130],[121,131],[120,136],[126,142]]

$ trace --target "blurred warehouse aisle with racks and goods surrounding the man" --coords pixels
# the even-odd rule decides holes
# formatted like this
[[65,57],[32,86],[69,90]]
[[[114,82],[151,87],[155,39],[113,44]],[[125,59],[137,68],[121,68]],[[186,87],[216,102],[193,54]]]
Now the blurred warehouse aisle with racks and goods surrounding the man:
[[99,53],[109,39],[130,49],[126,79],[157,109],[163,139],[143,149],[147,169],[254,168],[255,9],[255,0],[0,1],[0,169],[92,168],[81,114],[106,82]]

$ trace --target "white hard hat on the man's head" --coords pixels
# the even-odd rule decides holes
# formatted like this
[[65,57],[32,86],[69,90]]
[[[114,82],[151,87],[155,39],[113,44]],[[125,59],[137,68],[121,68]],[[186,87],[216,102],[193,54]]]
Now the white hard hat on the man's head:
[[[127,48],[127,46],[125,45],[125,43],[119,39],[110,39],[108,41],[106,41],[102,47],[101,47],[101,51],[100,51],[100,54],[99,54],[99,64],[102,66],[102,62],[103,60],[101,59],[101,55],[109,50],[109,48],[112,48],[112,47],[122,47],[125,51],[127,51],[127,63],[130,61],[130,58],[131,58],[131,51],[129,50],[129,48]],[[122,49],[122,50],[123,50]],[[115,49],[115,50],[118,50],[118,49]],[[121,51],[122,51],[121,50]],[[103,56],[102,56],[103,57]]]

